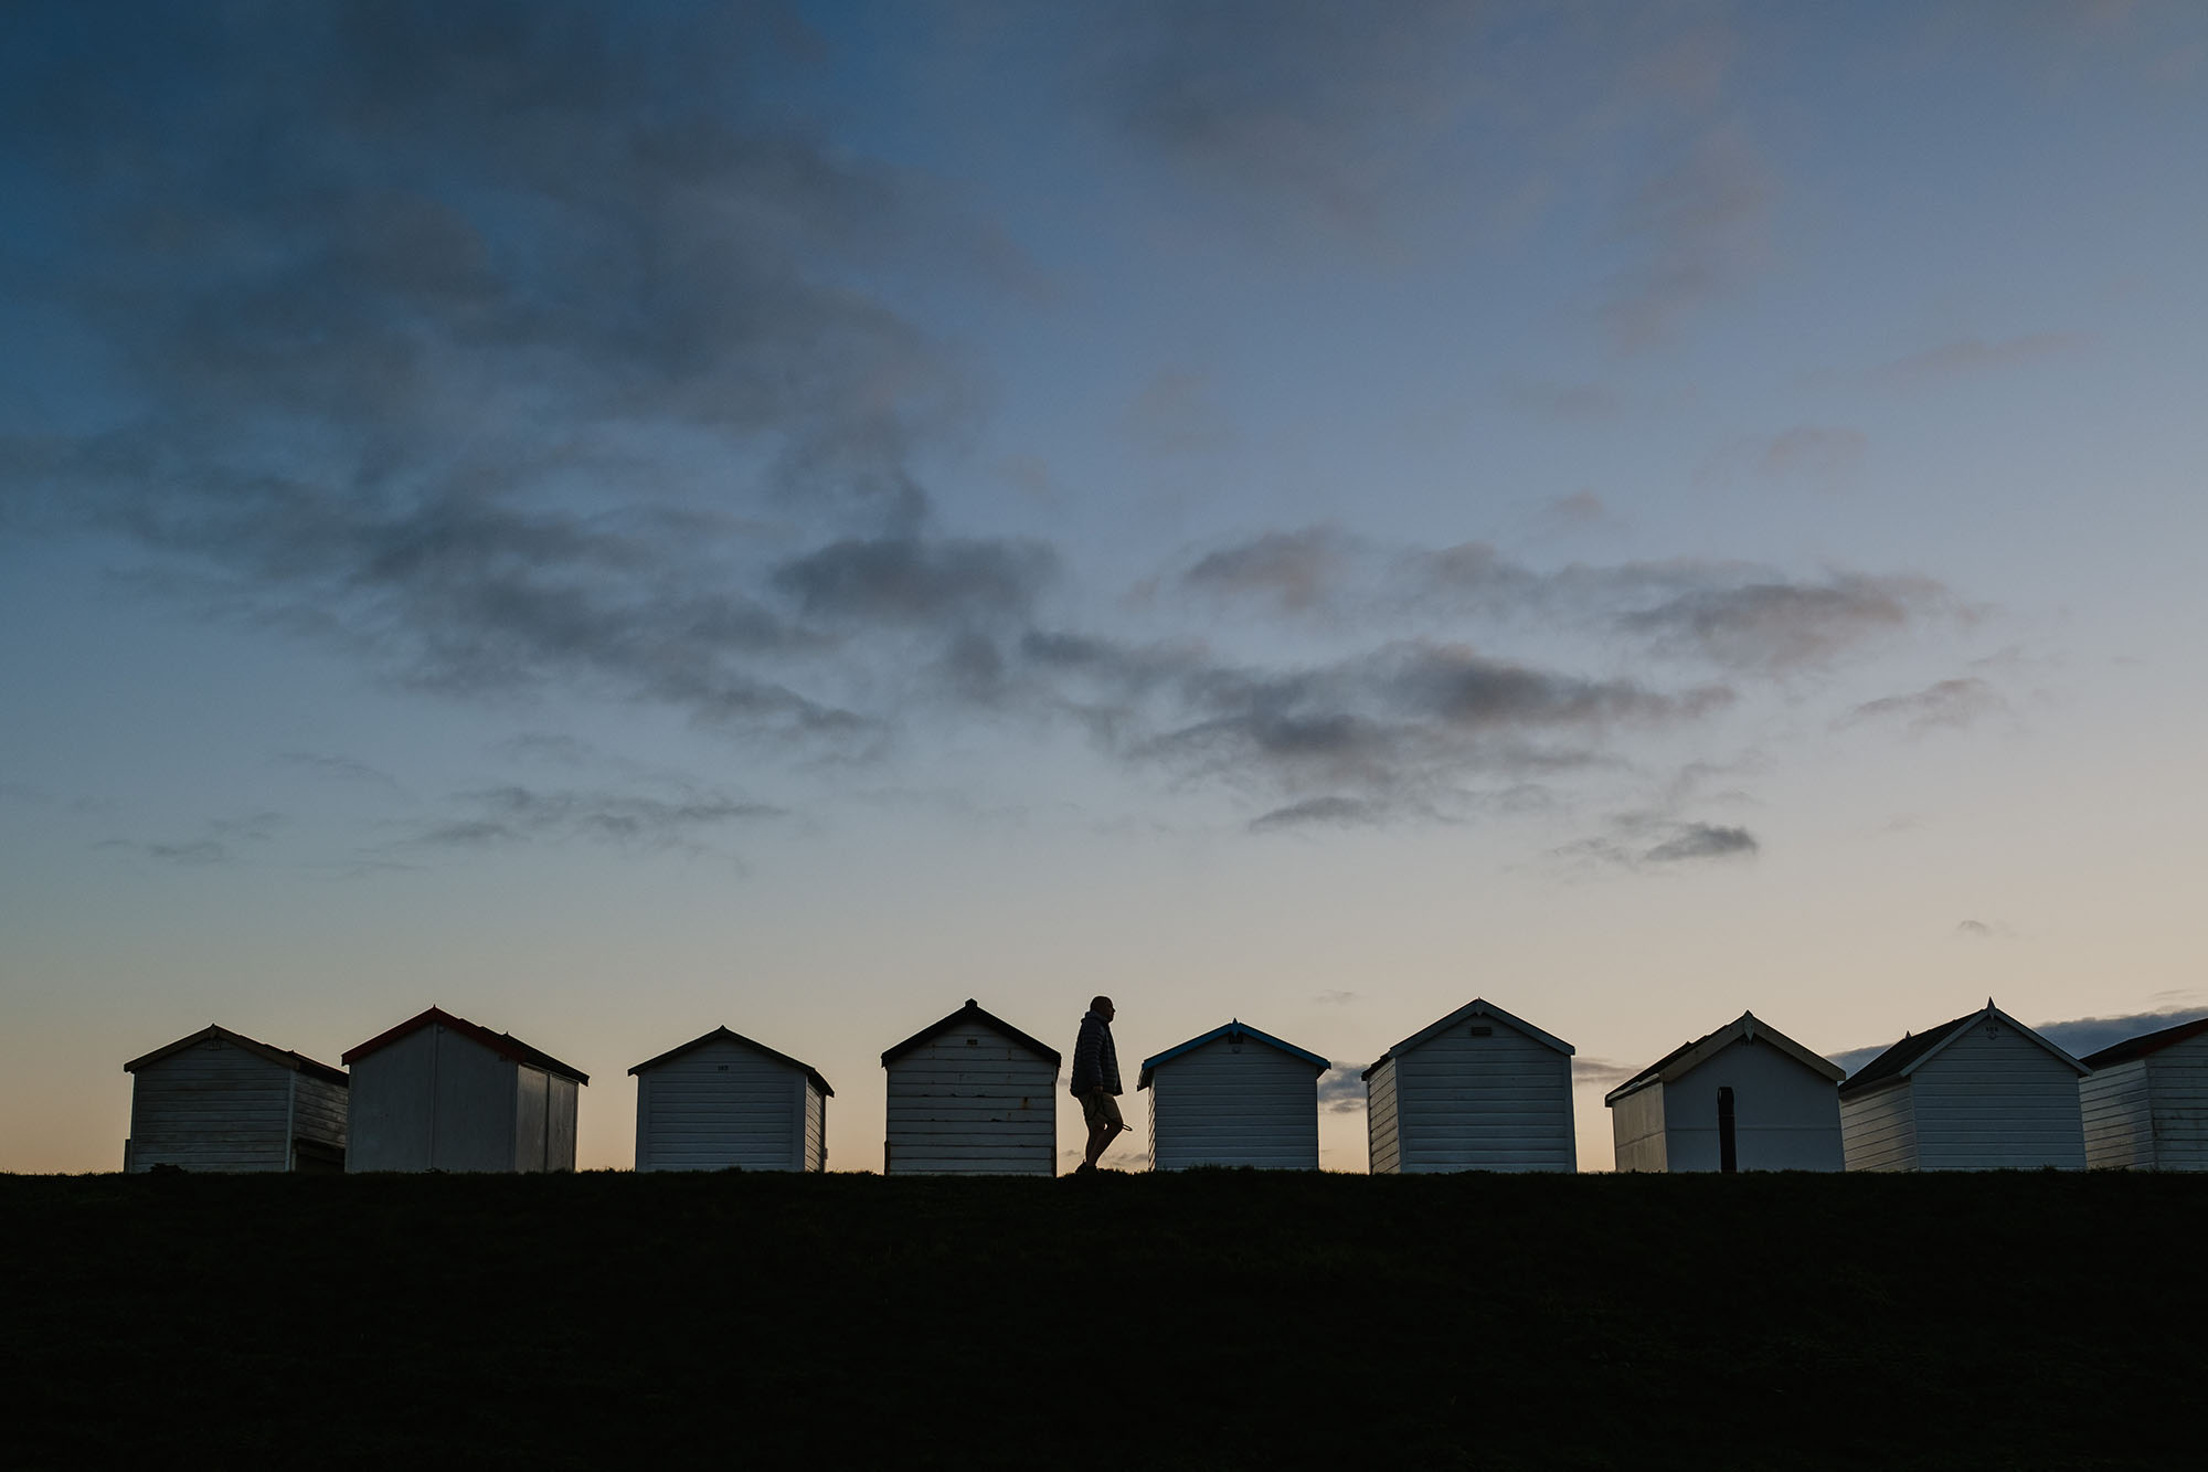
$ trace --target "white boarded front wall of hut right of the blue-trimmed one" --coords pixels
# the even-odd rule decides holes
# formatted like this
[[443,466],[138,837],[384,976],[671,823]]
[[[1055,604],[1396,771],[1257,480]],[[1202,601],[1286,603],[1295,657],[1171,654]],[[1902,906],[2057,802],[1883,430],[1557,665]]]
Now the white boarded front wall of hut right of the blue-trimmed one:
[[1404,1171],[1570,1171],[1572,1061],[1475,1017],[1398,1059]]

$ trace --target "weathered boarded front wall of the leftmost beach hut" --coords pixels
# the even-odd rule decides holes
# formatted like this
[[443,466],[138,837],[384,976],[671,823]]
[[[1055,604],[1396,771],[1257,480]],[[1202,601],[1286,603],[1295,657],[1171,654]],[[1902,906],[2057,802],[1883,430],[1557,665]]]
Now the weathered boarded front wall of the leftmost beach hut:
[[291,1167],[294,1072],[210,1037],[130,1076],[126,1169],[283,1171]]

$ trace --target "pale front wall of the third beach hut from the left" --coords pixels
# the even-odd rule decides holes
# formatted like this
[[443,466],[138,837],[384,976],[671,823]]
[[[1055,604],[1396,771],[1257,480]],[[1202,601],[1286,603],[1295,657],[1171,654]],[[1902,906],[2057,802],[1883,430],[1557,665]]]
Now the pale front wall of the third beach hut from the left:
[[786,1171],[799,1092],[804,1074],[726,1039],[658,1063],[636,1076],[636,1169]]

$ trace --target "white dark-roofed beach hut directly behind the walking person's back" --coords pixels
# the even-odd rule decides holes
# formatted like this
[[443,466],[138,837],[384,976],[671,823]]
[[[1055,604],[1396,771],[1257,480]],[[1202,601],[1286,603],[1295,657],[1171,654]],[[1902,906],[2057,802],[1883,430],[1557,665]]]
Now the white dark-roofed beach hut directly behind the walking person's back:
[[1055,1176],[1058,1050],[963,1008],[881,1054],[885,1176]]

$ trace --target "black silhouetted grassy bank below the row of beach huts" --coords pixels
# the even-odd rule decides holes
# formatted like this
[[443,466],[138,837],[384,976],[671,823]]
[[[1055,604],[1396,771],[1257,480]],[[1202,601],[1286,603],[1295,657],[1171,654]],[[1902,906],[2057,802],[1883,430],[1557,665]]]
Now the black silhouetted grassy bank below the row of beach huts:
[[2208,1178],[0,1178],[13,1465],[2188,1465]]

